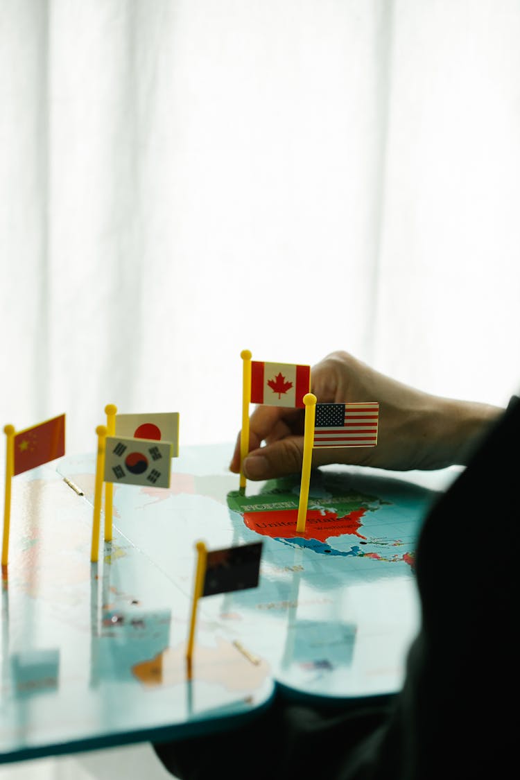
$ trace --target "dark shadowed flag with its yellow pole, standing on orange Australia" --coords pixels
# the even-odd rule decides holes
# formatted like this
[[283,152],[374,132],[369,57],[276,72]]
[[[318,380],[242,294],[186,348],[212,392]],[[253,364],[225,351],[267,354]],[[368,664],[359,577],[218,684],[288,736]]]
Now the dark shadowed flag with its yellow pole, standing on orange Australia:
[[189,678],[192,675],[193,638],[199,598],[228,593],[231,590],[246,590],[257,587],[263,544],[261,541],[251,542],[250,544],[208,552],[203,541],[196,543],[198,556],[186,647],[186,665]]

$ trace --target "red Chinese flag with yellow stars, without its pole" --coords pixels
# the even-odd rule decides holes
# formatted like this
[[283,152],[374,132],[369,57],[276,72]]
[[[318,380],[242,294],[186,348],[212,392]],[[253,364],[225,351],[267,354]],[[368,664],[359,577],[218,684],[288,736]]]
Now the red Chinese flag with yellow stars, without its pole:
[[19,431],[14,439],[13,474],[35,469],[65,455],[65,414]]

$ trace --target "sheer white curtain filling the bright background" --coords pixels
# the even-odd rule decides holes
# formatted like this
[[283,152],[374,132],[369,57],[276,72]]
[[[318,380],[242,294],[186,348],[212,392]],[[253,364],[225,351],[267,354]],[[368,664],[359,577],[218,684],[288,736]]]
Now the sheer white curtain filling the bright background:
[[231,442],[242,349],[505,404],[518,41],[518,0],[0,0],[2,425]]

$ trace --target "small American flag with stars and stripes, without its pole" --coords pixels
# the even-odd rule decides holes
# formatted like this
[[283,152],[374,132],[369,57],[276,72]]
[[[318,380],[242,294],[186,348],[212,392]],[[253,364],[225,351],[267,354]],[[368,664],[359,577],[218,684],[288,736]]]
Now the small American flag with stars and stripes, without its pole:
[[375,447],[379,403],[317,403],[313,447]]

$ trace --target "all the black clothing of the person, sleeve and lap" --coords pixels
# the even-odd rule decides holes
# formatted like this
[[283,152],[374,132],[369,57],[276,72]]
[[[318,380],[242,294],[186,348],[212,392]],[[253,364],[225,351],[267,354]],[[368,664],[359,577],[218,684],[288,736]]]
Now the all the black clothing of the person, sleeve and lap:
[[426,516],[416,551],[421,626],[398,694],[334,707],[277,693],[232,732],[155,745],[164,766],[182,780],[509,777],[520,743],[518,445],[514,397]]

